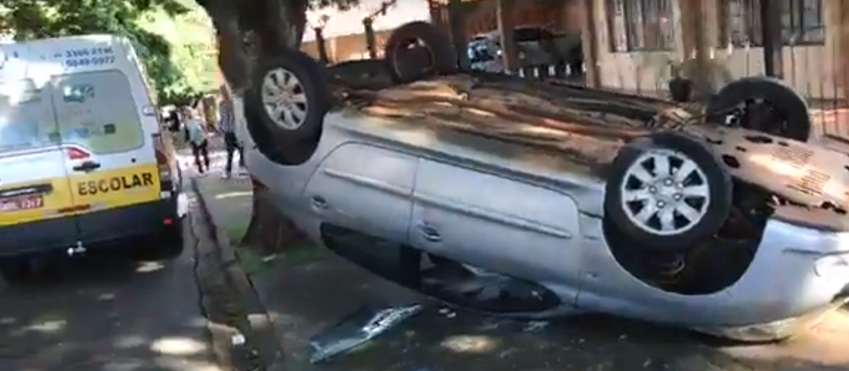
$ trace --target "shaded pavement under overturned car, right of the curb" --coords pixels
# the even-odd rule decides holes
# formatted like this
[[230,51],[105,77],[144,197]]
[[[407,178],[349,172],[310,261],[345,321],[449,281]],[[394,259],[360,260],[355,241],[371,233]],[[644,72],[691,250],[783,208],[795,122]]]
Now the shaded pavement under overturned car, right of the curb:
[[[335,256],[280,263],[254,278],[288,370],[849,370],[849,320],[831,338],[744,346],[683,329],[601,315],[527,322],[453,312],[385,283]],[[367,345],[311,365],[309,339],[363,304],[428,303],[418,316]],[[846,317],[841,314],[841,317]]]

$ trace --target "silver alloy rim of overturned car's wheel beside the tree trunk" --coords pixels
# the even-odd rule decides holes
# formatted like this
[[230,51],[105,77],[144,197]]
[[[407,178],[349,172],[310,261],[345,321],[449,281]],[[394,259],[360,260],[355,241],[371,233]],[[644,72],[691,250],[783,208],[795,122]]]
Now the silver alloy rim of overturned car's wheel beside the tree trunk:
[[290,70],[269,70],[262,79],[262,106],[284,130],[295,130],[306,121],[308,102],[301,80]]

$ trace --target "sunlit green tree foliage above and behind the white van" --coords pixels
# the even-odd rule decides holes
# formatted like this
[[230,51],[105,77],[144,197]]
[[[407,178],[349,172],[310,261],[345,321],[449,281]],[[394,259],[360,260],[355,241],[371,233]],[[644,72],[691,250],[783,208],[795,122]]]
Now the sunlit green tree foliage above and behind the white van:
[[[182,23],[203,22],[203,11],[186,0],[15,0],[3,2],[3,25],[15,39],[30,40],[92,33],[128,37],[144,61],[145,70],[161,103],[181,100],[205,89],[199,76],[203,60],[185,50],[186,42],[161,32],[155,25],[166,23],[178,29]],[[200,12],[200,20],[199,14]],[[198,31],[196,28],[193,30]],[[211,43],[210,26],[200,32]],[[188,43],[196,44],[197,40]],[[214,56],[211,58],[214,60]],[[194,65],[191,65],[194,63]],[[214,62],[213,62],[214,63]],[[183,64],[188,64],[183,65]]]

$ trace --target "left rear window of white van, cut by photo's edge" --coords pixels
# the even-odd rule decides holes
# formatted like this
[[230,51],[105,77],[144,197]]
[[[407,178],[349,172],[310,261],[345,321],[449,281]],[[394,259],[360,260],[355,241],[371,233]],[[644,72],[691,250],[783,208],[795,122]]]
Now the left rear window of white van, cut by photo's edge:
[[49,87],[0,82],[0,153],[59,143]]

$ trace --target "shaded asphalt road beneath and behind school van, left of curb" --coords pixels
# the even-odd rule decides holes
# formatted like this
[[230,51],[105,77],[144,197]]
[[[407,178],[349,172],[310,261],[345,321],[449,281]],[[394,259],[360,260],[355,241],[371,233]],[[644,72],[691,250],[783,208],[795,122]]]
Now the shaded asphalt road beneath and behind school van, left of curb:
[[207,371],[194,249],[179,259],[93,256],[0,284],[3,371]]

